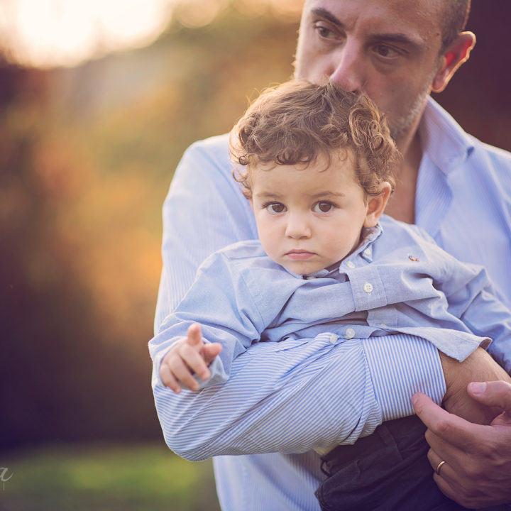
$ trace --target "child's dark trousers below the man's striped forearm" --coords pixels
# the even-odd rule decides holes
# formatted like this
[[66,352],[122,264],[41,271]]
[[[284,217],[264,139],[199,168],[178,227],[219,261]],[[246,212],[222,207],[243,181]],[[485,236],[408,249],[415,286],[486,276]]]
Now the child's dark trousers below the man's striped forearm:
[[[413,415],[384,422],[356,444],[322,458],[327,478],[316,490],[323,511],[459,511],[433,480],[426,427]],[[486,508],[509,510],[507,505]]]

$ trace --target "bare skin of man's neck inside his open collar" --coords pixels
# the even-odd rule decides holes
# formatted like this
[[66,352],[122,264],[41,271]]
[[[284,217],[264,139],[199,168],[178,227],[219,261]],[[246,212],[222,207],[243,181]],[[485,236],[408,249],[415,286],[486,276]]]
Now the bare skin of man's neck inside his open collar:
[[385,214],[396,220],[414,224],[415,221],[415,192],[417,189],[417,176],[422,160],[422,147],[417,129],[412,131],[409,140],[397,143],[403,155],[400,165],[397,166],[396,187],[385,208]]

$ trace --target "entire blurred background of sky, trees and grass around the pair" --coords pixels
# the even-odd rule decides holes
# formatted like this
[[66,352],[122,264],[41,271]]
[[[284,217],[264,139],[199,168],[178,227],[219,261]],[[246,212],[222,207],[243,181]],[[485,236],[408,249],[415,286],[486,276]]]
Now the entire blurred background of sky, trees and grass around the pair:
[[[301,4],[1,0],[0,509],[218,509],[150,392],[160,210],[187,145],[292,75]],[[473,0],[476,48],[436,95],[507,150],[510,18]]]

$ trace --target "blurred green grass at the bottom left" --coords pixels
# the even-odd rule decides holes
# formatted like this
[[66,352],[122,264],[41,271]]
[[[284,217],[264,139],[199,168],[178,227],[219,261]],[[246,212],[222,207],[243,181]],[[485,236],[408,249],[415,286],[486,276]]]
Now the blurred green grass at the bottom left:
[[51,446],[1,456],[2,511],[219,511],[211,461],[163,444]]

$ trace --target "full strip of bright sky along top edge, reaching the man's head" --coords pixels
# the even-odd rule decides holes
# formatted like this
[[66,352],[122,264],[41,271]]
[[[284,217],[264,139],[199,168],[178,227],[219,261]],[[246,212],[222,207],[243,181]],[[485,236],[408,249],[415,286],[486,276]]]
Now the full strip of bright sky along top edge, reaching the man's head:
[[296,18],[302,1],[2,0],[0,47],[23,65],[77,65],[153,42],[174,15],[185,26],[204,26],[228,4],[248,16],[271,9]]

